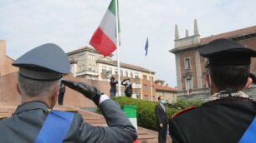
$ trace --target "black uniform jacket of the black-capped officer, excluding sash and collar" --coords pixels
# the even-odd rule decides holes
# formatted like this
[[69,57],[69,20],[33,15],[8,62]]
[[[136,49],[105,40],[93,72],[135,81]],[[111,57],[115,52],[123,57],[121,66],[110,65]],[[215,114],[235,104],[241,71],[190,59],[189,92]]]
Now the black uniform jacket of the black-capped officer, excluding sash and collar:
[[225,97],[177,114],[169,122],[169,133],[173,143],[235,143],[255,115],[254,101]]

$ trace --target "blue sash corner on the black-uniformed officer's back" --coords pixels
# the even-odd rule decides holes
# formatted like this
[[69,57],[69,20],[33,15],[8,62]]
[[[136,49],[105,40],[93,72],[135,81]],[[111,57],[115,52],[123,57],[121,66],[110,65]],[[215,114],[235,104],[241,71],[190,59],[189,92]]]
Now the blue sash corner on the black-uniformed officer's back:
[[253,122],[248,126],[248,129],[244,132],[239,143],[253,143],[256,142],[256,117]]

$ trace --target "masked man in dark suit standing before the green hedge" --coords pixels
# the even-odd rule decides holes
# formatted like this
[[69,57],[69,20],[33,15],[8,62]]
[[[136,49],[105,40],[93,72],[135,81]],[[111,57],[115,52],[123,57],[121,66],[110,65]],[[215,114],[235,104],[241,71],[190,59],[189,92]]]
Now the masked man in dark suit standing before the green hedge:
[[158,104],[155,107],[156,112],[156,124],[159,127],[158,130],[158,142],[166,143],[166,135],[167,135],[167,114],[166,107],[164,106],[165,100],[162,96],[158,96]]

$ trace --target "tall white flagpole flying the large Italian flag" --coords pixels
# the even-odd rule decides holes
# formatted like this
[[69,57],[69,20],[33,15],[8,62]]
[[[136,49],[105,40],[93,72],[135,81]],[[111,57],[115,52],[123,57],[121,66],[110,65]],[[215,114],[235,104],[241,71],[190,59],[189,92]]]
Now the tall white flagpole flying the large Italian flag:
[[118,71],[118,96],[121,96],[120,91],[120,58],[119,58],[119,12],[118,12],[118,0],[115,0],[115,36],[116,36],[116,50],[117,50],[117,71]]

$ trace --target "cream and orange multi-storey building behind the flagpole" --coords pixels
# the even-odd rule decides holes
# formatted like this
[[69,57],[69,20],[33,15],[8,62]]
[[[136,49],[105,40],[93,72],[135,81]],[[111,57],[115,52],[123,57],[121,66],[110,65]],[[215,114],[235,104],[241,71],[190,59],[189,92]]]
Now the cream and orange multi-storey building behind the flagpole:
[[[74,76],[99,81],[110,81],[110,76],[115,76],[115,79],[118,77],[117,62],[111,59],[112,55],[103,57],[91,47],[82,47],[68,52],[67,55]],[[155,95],[155,72],[143,67],[120,63],[120,81],[126,78],[132,82],[133,98],[151,100],[149,96]],[[152,90],[149,90],[150,86]],[[121,86],[121,92],[124,93],[124,91],[125,87]],[[152,100],[156,101],[156,97],[154,96]]]

